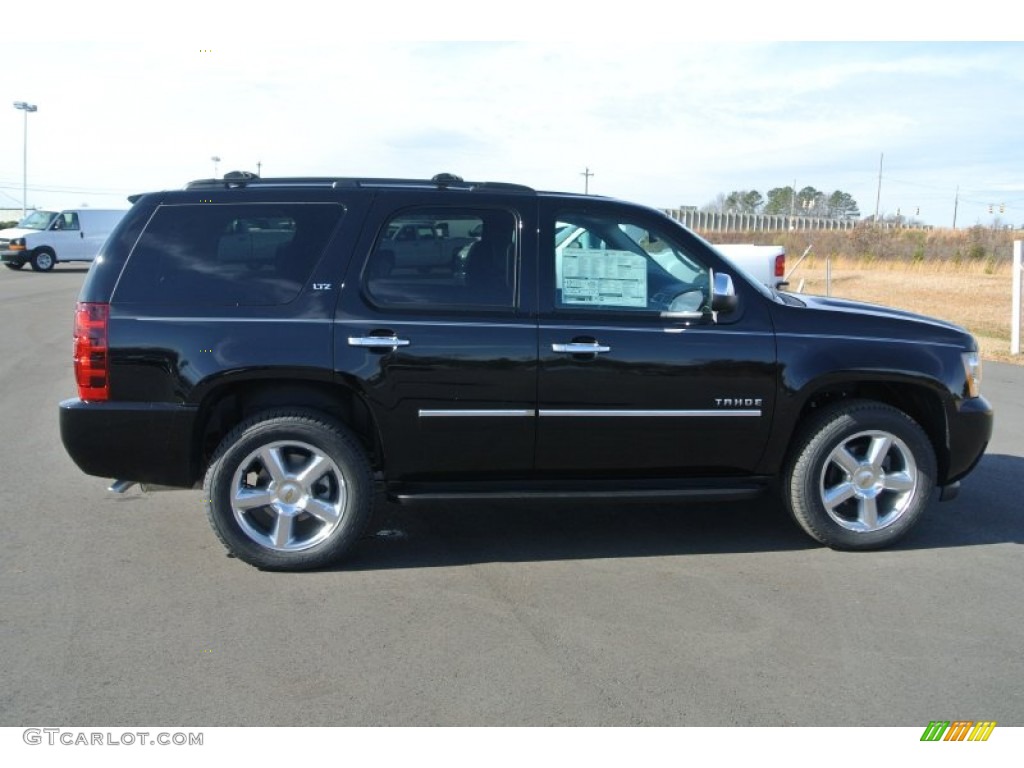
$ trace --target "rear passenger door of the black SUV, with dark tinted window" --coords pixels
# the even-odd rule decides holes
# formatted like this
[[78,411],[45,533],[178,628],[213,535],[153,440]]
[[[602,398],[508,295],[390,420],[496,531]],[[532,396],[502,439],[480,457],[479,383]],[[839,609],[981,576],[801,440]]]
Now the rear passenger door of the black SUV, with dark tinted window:
[[[423,221],[479,236],[430,268],[388,257],[389,229]],[[378,194],[339,302],[335,367],[373,413],[389,479],[532,468],[536,232],[534,198]]]

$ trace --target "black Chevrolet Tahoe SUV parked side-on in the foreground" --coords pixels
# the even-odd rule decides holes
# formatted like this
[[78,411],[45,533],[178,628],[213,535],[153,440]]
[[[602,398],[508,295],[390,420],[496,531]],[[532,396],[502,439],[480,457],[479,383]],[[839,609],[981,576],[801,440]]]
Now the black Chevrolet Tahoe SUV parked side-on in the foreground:
[[751,498],[841,549],[955,495],[992,411],[963,329],[776,293],[657,211],[505,183],[233,173],[133,198],[75,315],[84,472],[204,483],[260,567],[338,560],[375,486]]

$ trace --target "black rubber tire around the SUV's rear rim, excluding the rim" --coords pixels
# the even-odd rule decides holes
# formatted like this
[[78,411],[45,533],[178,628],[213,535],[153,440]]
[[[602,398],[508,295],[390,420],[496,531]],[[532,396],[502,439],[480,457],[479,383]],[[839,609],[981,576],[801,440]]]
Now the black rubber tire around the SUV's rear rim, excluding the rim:
[[[339,525],[324,541],[294,552],[260,546],[242,528],[231,508],[232,483],[240,462],[261,445],[278,441],[314,446],[334,461],[345,481],[345,506]],[[203,487],[207,515],[224,546],[238,558],[268,570],[305,570],[341,559],[361,535],[373,500],[370,467],[354,436],[331,421],[294,414],[250,420],[227,435],[207,471]]]

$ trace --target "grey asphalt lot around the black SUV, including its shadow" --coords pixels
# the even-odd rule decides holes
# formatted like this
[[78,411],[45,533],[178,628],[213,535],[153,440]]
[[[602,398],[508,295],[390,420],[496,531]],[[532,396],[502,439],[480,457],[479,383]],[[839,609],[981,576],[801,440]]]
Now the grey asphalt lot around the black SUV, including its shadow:
[[226,556],[200,492],[122,497],[57,431],[85,275],[0,270],[0,725],[1024,725],[1024,368],[900,547],[778,504],[379,505],[344,567]]

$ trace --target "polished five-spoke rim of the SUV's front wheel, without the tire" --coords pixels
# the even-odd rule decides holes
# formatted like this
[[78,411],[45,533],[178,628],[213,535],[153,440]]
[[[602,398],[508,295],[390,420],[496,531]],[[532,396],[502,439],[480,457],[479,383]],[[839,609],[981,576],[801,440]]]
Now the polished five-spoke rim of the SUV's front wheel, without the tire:
[[892,525],[913,503],[919,474],[913,454],[889,432],[851,435],[821,468],[825,512],[848,530],[867,532]]

